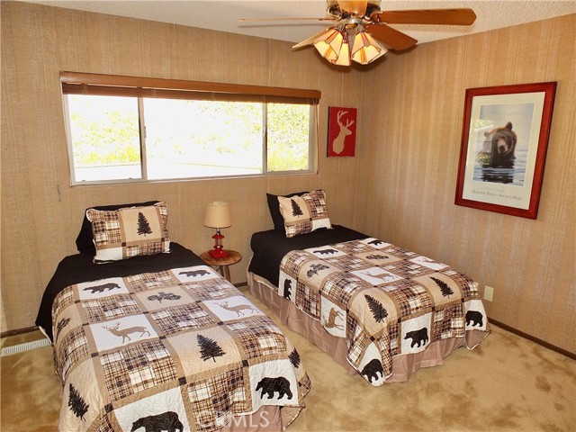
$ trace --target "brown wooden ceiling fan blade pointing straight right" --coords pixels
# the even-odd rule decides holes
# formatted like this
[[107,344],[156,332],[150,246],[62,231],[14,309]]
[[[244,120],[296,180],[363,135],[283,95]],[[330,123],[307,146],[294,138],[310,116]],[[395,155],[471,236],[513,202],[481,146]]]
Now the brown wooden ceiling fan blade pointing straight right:
[[471,25],[476,21],[472,9],[419,9],[414,11],[376,11],[376,23]]

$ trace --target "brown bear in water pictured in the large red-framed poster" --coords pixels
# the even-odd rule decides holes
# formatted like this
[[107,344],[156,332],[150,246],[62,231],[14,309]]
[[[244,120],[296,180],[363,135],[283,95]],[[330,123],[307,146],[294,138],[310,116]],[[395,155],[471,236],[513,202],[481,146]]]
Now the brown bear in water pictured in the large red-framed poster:
[[512,130],[512,123],[510,121],[503,127],[486,130],[484,132],[482,150],[476,158],[478,164],[482,166],[483,181],[504,184],[512,183],[512,170],[516,160],[515,151],[517,143],[518,136],[516,132]]

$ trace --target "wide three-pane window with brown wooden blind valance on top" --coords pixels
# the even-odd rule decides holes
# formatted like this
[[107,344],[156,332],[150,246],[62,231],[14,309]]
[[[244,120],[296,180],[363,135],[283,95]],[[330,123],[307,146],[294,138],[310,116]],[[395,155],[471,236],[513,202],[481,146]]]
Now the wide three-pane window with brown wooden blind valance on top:
[[72,184],[312,173],[320,92],[60,74]]

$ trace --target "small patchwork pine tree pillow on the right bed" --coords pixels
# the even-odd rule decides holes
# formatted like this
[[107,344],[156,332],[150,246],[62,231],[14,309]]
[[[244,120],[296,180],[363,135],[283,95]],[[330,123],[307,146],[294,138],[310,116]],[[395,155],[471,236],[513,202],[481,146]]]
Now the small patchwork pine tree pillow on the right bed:
[[326,193],[320,189],[300,196],[279,196],[278,202],[288,238],[320,228],[332,228],[326,209]]

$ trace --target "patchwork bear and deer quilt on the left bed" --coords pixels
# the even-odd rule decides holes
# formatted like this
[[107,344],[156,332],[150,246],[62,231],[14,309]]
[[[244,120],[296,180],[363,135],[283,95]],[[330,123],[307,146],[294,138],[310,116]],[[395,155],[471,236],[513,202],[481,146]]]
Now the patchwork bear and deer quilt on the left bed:
[[52,307],[63,431],[212,431],[311,383],[290,341],[208,266],[74,284]]

